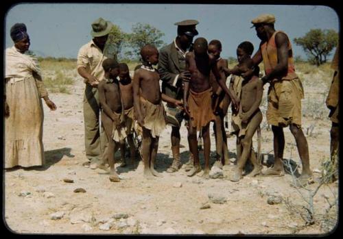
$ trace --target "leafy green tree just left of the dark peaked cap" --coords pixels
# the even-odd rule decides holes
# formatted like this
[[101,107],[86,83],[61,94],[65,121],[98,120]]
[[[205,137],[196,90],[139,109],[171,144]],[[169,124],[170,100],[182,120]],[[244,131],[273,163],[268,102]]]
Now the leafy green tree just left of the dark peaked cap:
[[147,44],[154,45],[159,48],[163,45],[163,37],[165,34],[156,27],[149,24],[137,23],[132,26],[132,33],[128,34],[128,45],[133,51],[128,51],[126,55],[139,57],[141,48]]

